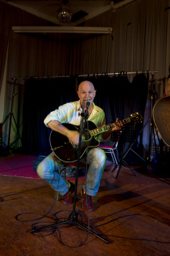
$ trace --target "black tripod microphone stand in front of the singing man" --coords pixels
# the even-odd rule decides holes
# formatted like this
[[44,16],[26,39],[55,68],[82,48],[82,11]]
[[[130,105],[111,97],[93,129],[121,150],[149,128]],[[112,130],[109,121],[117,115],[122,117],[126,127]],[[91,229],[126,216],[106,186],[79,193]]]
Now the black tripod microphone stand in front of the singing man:
[[[83,101],[83,107],[82,107],[82,113],[80,113],[81,115],[81,125],[80,125],[80,135],[79,135],[79,143],[78,143],[78,164],[77,164],[77,168],[76,168],[76,177],[75,177],[75,188],[74,188],[74,204],[73,204],[73,210],[71,212],[71,214],[69,215],[67,221],[57,221],[55,224],[49,224],[46,226],[42,226],[40,228],[32,228],[31,229],[31,233],[34,232],[39,232],[42,229],[45,228],[52,228],[61,224],[70,224],[71,226],[73,225],[77,225],[82,229],[85,229],[86,232],[91,233],[92,235],[98,237],[99,239],[102,239],[103,242],[105,243],[109,243],[109,241],[107,239],[104,239],[103,237],[99,236],[98,234],[96,234],[95,232],[93,232],[92,230],[90,230],[89,228],[87,228],[82,221],[80,223],[80,221],[78,221],[78,216],[80,215],[80,211],[76,211],[75,210],[75,206],[76,206],[76,197],[77,197],[77,189],[78,189],[78,170],[79,170],[79,164],[80,164],[80,157],[81,157],[81,138],[82,138],[82,133],[84,131],[85,128],[85,123],[89,117],[89,106],[86,107],[86,110],[84,112],[84,108],[85,108],[85,100]],[[81,230],[83,231],[83,230]]]

